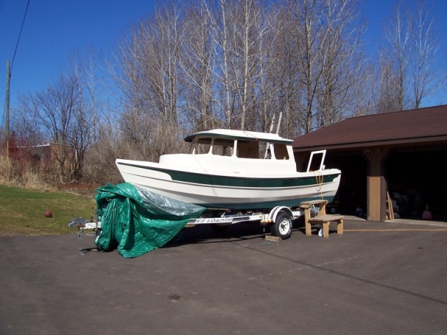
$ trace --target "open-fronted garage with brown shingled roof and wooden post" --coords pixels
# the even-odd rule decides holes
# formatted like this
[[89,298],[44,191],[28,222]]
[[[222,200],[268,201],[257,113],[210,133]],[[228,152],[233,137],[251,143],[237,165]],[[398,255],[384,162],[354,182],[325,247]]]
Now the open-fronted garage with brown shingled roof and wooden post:
[[339,212],[386,221],[390,195],[396,217],[447,219],[447,105],[352,117],[293,143],[297,162],[321,149],[342,170]]

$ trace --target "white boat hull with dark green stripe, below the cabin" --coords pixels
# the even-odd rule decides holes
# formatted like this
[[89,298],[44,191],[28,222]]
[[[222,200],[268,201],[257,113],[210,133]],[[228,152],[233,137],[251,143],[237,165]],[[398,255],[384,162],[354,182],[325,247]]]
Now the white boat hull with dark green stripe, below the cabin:
[[160,163],[117,160],[124,181],[176,200],[208,208],[267,209],[296,207],[302,201],[335,196],[340,181],[336,169],[293,172],[272,177],[235,177],[174,170]]

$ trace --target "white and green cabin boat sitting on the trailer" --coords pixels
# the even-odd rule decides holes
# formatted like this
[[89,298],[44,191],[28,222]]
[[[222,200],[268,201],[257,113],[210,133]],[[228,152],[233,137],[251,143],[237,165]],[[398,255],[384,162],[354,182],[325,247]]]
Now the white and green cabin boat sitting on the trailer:
[[184,140],[191,142],[189,154],[162,155],[159,163],[117,159],[124,181],[175,200],[230,211],[298,207],[321,198],[331,202],[339,186],[341,171],[325,169],[325,150],[312,152],[307,170],[300,172],[293,140],[277,134],[215,129]]

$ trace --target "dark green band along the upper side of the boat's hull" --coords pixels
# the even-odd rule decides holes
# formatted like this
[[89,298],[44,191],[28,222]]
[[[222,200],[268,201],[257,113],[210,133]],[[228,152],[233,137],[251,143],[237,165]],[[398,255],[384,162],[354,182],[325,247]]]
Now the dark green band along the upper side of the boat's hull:
[[339,176],[339,174],[328,174],[325,176],[316,174],[315,176],[300,177],[300,178],[296,177],[278,178],[278,179],[249,178],[249,177],[242,178],[242,177],[216,176],[212,174],[200,174],[193,172],[181,172],[181,171],[173,171],[160,168],[147,168],[144,166],[129,163],[119,163],[119,164],[132,166],[134,168],[163,172],[169,174],[171,179],[173,179],[174,181],[182,181],[184,183],[212,185],[212,186],[245,187],[245,188],[285,188],[285,187],[328,184],[332,183],[332,181],[334,181],[334,179]]

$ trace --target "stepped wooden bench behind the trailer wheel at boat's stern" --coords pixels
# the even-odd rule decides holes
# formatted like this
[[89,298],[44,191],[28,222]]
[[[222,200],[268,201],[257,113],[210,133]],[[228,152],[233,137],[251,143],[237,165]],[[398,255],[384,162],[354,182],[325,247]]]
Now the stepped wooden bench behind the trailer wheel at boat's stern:
[[[301,202],[300,207],[305,210],[305,228],[306,235],[312,235],[312,225],[323,225],[323,237],[329,237],[329,223],[337,222],[337,234],[343,234],[343,216],[326,214],[326,204],[328,200],[312,200]],[[320,209],[319,214],[312,217],[311,208],[318,207]]]

